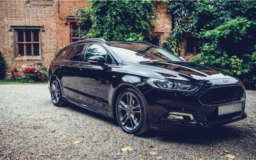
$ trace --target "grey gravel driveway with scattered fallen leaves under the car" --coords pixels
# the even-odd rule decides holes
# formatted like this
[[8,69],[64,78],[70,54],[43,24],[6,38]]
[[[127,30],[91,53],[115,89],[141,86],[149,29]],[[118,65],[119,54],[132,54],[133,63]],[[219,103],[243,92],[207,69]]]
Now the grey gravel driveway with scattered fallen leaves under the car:
[[[100,114],[75,105],[53,106],[45,84],[0,85],[0,160],[228,160],[228,153],[216,152],[223,150],[235,159],[256,159],[256,91],[246,93],[245,111],[251,117],[245,120],[212,129],[151,131],[136,137]],[[127,146],[132,150],[116,156]]]

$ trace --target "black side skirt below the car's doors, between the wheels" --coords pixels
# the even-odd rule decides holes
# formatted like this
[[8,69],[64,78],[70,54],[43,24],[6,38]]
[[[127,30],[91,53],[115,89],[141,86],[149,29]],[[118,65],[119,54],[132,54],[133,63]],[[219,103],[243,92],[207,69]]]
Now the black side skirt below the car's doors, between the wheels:
[[84,104],[84,103],[82,103],[82,102],[80,102],[80,101],[78,101],[78,100],[74,100],[74,99],[69,98],[69,97],[62,97],[62,98],[63,98],[63,100],[66,100],[66,101],[68,101],[68,102],[70,102],[70,103],[73,103],[73,104],[75,104],[75,105],[77,105],[77,106],[79,106],[79,107],[88,109],[88,110],[93,111],[93,112],[96,112],[96,113],[100,113],[100,114],[102,114],[102,115],[104,115],[104,116],[107,116],[107,117],[110,117],[110,118],[114,118],[114,116],[113,116],[114,114],[111,113],[111,112],[107,112],[107,111],[105,111],[105,110],[102,110],[102,109],[99,109],[99,108],[95,108],[95,107],[89,106],[89,105],[87,105],[87,104]]

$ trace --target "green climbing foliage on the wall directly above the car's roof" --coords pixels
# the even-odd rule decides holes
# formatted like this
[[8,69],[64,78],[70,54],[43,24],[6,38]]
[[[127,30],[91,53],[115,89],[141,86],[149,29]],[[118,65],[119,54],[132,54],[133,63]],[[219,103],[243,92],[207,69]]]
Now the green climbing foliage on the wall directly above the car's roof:
[[79,24],[92,21],[89,38],[143,40],[151,33],[155,8],[151,1],[91,1],[90,8],[79,9]]

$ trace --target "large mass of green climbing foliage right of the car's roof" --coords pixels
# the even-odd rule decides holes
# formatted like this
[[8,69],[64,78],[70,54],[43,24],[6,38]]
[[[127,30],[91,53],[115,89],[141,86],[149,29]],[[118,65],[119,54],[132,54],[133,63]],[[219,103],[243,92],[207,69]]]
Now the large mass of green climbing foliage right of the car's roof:
[[192,62],[212,65],[238,76],[248,88],[256,84],[256,3],[254,1],[168,1],[175,28],[164,47],[175,54],[182,38],[197,38],[200,54]]

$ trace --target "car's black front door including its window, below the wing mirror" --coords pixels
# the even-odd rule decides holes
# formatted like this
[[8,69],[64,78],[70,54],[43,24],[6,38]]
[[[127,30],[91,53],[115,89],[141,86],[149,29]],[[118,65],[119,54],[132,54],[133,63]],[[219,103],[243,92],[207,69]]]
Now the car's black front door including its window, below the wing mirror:
[[[99,44],[88,44],[84,54],[84,62],[80,63],[78,74],[79,100],[90,106],[111,111],[109,105],[109,89],[111,88],[111,71],[88,63],[92,56],[103,56],[109,60],[108,52]],[[111,58],[111,57],[110,57]]]

